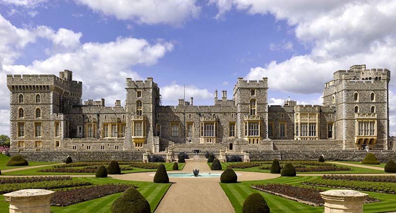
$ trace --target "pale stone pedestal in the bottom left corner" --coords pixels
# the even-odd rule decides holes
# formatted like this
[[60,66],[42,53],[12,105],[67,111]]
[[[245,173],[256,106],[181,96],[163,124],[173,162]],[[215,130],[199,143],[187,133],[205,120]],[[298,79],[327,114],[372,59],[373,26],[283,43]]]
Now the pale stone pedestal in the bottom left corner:
[[24,189],[4,194],[9,202],[9,213],[50,213],[53,191],[45,189]]

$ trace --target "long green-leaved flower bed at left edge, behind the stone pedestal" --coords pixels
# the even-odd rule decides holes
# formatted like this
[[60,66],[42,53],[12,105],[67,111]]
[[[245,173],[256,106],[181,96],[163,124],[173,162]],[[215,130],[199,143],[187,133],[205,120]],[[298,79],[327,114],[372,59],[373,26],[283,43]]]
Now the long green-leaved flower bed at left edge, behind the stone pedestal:
[[92,183],[81,180],[52,180],[31,183],[5,183],[0,185],[0,194],[5,194],[21,189],[59,189],[88,185],[92,185]]

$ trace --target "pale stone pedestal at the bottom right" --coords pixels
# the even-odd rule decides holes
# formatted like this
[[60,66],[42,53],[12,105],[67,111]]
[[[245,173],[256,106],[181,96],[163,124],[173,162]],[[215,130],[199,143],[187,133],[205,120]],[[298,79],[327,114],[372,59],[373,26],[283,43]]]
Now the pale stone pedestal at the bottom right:
[[363,213],[363,202],[368,194],[353,190],[329,190],[321,192],[325,201],[324,213]]

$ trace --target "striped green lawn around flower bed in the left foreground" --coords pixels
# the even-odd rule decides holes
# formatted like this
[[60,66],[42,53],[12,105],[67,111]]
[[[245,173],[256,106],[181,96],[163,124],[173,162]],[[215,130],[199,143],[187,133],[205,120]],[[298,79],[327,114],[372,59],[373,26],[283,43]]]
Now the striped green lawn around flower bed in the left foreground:
[[[138,191],[147,199],[150,204],[151,212],[157,208],[162,197],[165,195],[170,187],[169,184],[159,184],[151,182],[140,181],[125,181],[112,178],[94,178],[94,177],[79,177],[77,179],[89,181],[94,184],[108,184],[108,183],[133,183],[138,186]],[[110,213],[111,205],[121,193],[108,195],[95,200],[86,201],[79,204],[70,205],[67,207],[51,207],[53,213]],[[8,212],[9,204],[4,202],[4,196],[0,195],[0,212]]]

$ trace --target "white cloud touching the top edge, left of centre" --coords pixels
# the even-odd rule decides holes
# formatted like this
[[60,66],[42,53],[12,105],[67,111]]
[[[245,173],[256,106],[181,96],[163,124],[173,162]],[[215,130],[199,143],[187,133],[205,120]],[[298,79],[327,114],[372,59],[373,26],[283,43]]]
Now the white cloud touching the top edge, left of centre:
[[76,0],[94,11],[113,15],[117,19],[131,19],[144,24],[183,24],[196,18],[201,7],[197,0]]

